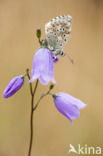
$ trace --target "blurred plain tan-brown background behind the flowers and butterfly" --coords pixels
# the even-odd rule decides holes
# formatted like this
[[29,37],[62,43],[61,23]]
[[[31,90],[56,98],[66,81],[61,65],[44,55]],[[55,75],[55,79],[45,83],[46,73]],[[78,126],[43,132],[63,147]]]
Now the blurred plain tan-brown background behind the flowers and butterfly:
[[[71,38],[64,51],[74,59],[55,64],[54,92],[68,92],[88,106],[70,122],[42,100],[34,115],[32,156],[68,156],[69,144],[103,147],[103,1],[102,0],[0,0],[0,156],[26,156],[29,144],[30,94],[28,80],[9,99],[8,82],[32,67],[39,48],[35,32],[52,18],[70,14]],[[37,97],[49,86],[39,84]]]

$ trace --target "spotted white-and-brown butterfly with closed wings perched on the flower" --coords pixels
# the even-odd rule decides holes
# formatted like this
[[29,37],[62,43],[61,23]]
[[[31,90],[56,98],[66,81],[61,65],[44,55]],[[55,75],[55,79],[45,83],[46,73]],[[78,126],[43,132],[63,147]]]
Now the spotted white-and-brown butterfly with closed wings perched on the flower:
[[[64,56],[63,48],[67,43],[72,26],[72,17],[69,15],[57,16],[45,24],[48,48],[57,56]],[[69,56],[68,56],[69,57]],[[72,61],[72,59],[69,57]]]

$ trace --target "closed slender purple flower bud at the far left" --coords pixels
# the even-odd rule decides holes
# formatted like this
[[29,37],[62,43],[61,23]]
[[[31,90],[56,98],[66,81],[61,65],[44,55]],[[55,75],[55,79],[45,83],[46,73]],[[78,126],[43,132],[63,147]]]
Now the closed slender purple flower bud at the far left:
[[24,84],[24,76],[16,76],[14,77],[5,88],[3,96],[4,98],[8,98],[15,94]]

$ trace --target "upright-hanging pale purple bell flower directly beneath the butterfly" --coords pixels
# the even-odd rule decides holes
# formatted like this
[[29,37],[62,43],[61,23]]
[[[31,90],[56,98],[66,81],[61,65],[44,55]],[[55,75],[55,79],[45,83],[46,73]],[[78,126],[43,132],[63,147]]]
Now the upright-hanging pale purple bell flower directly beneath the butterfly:
[[56,83],[52,53],[48,48],[40,48],[34,55],[32,75],[29,82],[33,82],[36,79],[39,79],[43,85],[47,85],[50,81]]

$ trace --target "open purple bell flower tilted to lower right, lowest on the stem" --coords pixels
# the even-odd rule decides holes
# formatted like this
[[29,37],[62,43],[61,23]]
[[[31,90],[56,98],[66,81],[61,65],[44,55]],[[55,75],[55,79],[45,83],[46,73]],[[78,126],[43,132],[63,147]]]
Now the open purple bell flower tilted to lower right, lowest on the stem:
[[86,107],[86,104],[84,104],[81,100],[67,93],[53,94],[53,97],[58,111],[65,115],[71,123],[72,119],[76,119],[80,116],[79,110]]

